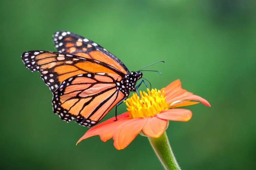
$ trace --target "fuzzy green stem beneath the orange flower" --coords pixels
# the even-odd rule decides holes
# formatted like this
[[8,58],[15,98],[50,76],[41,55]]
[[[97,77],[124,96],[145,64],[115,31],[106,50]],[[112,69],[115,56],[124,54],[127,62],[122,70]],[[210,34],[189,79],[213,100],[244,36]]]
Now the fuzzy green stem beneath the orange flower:
[[157,157],[166,170],[180,170],[180,167],[172,152],[166,132],[164,132],[158,138],[148,137],[148,139],[154,151],[156,152]]

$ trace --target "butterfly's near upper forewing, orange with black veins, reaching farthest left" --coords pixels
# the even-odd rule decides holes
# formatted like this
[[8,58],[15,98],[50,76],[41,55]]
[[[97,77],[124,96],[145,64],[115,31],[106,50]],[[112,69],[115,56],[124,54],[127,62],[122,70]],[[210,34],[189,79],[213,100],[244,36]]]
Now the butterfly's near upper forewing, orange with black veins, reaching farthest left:
[[54,92],[65,79],[79,74],[103,72],[125,76],[124,73],[106,63],[70,54],[27,51],[21,58],[32,72],[41,72],[40,77],[49,86],[51,92]]

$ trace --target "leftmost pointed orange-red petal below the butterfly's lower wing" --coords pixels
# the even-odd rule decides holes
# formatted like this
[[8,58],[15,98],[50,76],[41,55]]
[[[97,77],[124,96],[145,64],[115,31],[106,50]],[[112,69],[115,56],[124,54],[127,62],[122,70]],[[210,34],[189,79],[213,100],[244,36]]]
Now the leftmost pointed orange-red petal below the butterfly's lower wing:
[[115,120],[115,117],[106,120],[94,127],[92,127],[91,129],[89,129],[78,141],[77,144],[83,140],[86,139],[88,137],[91,136],[95,136],[95,135],[99,135],[100,139],[104,142],[106,142],[107,140],[111,139],[114,135],[115,130],[117,129],[117,127],[119,125],[121,125],[122,123],[124,123],[125,121],[130,120],[131,118],[129,117],[129,115],[127,114],[122,114],[117,116],[117,121]]

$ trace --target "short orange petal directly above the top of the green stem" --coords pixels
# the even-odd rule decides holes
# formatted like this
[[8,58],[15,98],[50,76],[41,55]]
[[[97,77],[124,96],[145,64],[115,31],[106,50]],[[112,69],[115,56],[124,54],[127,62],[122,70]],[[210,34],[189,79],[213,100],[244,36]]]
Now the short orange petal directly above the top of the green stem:
[[159,137],[166,129],[167,120],[158,117],[148,117],[147,123],[142,129],[143,132],[150,137]]

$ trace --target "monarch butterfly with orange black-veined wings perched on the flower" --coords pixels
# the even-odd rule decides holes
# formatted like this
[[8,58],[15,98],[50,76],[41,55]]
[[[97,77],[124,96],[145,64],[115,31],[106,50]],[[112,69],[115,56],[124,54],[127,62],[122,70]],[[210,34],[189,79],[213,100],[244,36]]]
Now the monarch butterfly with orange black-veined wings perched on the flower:
[[142,79],[135,86],[143,78],[141,71],[150,71],[130,72],[109,51],[71,32],[57,31],[53,40],[59,52],[26,51],[21,58],[32,72],[41,72],[53,93],[54,113],[67,122],[74,120],[87,127],[97,124],[145,83]]

